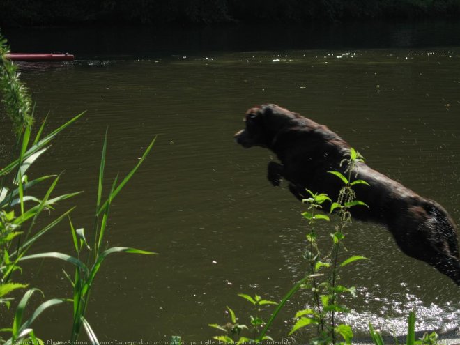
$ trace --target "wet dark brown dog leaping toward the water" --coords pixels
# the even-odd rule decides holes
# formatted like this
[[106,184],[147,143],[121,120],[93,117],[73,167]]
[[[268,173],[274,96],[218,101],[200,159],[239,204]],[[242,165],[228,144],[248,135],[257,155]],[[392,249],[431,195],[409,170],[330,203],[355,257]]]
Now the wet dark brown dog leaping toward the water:
[[[326,193],[337,200],[342,182],[327,171],[341,171],[340,162],[350,146],[324,125],[277,105],[262,105],[246,113],[246,128],[235,135],[245,148],[261,146],[276,153],[282,164],[268,164],[268,180],[279,185],[289,181],[298,199],[305,188]],[[385,224],[401,250],[429,263],[460,285],[459,245],[455,225],[436,201],[420,197],[412,190],[360,162],[353,176],[367,185],[355,185],[356,199],[369,208],[351,208],[358,220]]]

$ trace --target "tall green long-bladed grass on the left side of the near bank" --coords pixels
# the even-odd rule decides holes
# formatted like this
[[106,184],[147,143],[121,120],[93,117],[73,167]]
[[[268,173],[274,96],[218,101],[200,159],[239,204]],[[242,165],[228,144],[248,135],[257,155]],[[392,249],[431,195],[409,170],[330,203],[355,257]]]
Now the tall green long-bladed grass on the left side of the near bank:
[[[109,184],[105,185],[105,160],[107,152],[107,131],[102,144],[102,157],[98,176],[98,194],[95,201],[94,226],[91,229],[91,247],[86,240],[86,233],[83,228],[74,227],[71,219],[71,207],[61,213],[49,224],[37,227],[40,215],[45,210],[54,210],[54,205],[79,194],[80,192],[70,192],[54,196],[54,190],[61,178],[60,175],[46,175],[29,180],[28,174],[33,164],[36,164],[41,155],[47,152],[50,142],[59,135],[60,132],[75,123],[84,113],[79,114],[69,121],[53,130],[48,135],[43,135],[45,122],[38,128],[35,137],[32,136],[33,109],[31,108],[31,98],[28,90],[20,81],[20,73],[16,66],[6,58],[8,53],[6,39],[0,35],[0,91],[2,100],[2,110],[11,121],[13,133],[17,138],[17,158],[6,164],[0,169],[0,308],[14,307],[15,313],[12,325],[9,327],[0,324],[0,332],[9,334],[6,339],[0,337],[0,344],[19,344],[21,342],[32,342],[40,344],[40,339],[33,330],[33,321],[40,314],[50,307],[61,303],[72,305],[72,323],[69,327],[69,340],[72,342],[79,339],[82,328],[86,332],[93,344],[98,344],[98,338],[91,327],[86,311],[89,305],[89,296],[95,283],[102,263],[107,256],[116,252],[132,254],[155,254],[151,251],[138,250],[131,247],[110,247],[105,248],[107,243],[107,220],[112,201],[118,193],[125,187],[135,174],[137,169],[146,159],[155,143],[155,139],[148,145],[146,151],[135,167],[123,178],[118,176]],[[35,197],[33,187],[50,182],[43,197]],[[105,196],[104,196],[105,195]],[[68,227],[72,234],[75,255],[61,252],[45,252],[27,255],[31,247],[37,240],[45,236],[49,230],[56,227],[63,227],[63,220],[68,220]],[[66,261],[73,267],[72,277],[64,271],[71,286],[71,298],[52,298],[46,300],[36,309],[31,311],[28,319],[26,314],[30,314],[26,309],[29,300],[38,289],[31,288],[29,284],[15,282],[15,273],[22,271],[20,264],[23,261],[32,259],[52,258]],[[26,276],[25,276],[26,277]],[[24,279],[24,278],[23,278]],[[25,278],[26,279],[26,278]],[[16,303],[13,298],[13,291],[29,288],[24,296]],[[43,293],[42,293],[43,295]],[[5,323],[6,320],[0,321]]]

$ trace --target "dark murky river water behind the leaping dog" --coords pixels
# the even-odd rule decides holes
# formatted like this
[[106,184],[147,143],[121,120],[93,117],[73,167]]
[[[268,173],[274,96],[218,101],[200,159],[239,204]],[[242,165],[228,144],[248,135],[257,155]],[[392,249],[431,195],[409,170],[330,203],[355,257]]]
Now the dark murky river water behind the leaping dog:
[[[211,31],[5,31],[13,51],[77,55],[75,63],[20,64],[37,100],[36,122],[49,112],[47,130],[86,110],[31,172],[63,171],[60,192],[84,190],[56,206],[49,220],[76,204],[75,226],[91,231],[107,127],[107,186],[157,136],[112,206],[107,240],[160,255],[119,254],[104,263],[87,314],[101,341],[210,339],[218,332],[208,323],[226,323],[227,305],[249,323],[252,310],[238,293],[280,300],[305,274],[305,208],[286,185],[266,181],[273,154],[233,142],[252,105],[277,103],[328,125],[371,167],[435,199],[460,223],[458,24]],[[3,164],[12,144],[8,123],[0,135]],[[324,250],[332,226],[320,231]],[[343,284],[358,289],[344,318],[357,337],[367,334],[369,321],[404,334],[412,309],[418,330],[459,327],[460,293],[450,279],[401,254],[383,227],[353,222],[347,233],[345,255],[370,259],[342,274]],[[66,224],[35,250],[72,253]],[[61,262],[36,261],[23,274],[46,298],[71,297],[62,268],[71,271]],[[298,293],[271,335],[305,343],[307,330],[286,334],[295,312],[310,302],[309,293]],[[70,314],[70,305],[43,314],[36,334],[67,339]]]

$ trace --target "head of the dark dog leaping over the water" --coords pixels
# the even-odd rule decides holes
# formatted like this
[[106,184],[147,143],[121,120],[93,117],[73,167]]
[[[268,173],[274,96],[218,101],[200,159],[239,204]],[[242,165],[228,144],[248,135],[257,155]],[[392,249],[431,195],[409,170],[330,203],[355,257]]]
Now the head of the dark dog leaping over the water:
[[270,148],[277,132],[286,128],[299,115],[277,105],[259,105],[247,110],[246,128],[236,132],[235,141],[245,148]]

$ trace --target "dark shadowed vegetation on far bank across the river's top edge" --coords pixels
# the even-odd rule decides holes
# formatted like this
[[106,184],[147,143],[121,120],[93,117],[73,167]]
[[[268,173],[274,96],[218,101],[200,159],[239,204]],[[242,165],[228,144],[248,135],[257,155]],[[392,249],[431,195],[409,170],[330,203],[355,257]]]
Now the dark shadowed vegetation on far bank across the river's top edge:
[[460,0],[0,1],[0,26],[94,22],[187,25],[459,16]]

